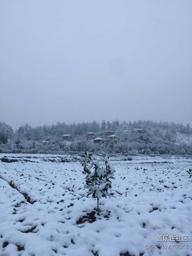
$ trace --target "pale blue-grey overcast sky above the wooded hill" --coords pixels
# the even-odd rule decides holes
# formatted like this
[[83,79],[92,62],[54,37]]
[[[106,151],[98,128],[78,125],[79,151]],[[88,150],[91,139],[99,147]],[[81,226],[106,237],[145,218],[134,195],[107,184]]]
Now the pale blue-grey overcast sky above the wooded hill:
[[191,0],[0,0],[0,121],[192,126]]

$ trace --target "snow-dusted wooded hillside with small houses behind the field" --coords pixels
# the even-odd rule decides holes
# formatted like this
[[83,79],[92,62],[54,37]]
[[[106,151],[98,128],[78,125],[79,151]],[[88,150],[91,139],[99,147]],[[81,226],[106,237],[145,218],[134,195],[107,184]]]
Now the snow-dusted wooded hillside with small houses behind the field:
[[[106,135],[109,131],[113,136]],[[103,120],[101,123],[57,122],[34,128],[24,124],[14,132],[10,125],[0,122],[0,153],[72,154],[85,150],[192,155],[192,128],[174,122]]]

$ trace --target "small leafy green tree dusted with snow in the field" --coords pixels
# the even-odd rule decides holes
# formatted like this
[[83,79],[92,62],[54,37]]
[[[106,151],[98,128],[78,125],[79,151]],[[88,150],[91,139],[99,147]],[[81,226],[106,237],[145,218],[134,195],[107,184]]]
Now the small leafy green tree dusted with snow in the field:
[[92,154],[85,152],[82,156],[76,157],[83,166],[83,174],[85,177],[85,188],[89,189],[88,195],[92,195],[97,199],[97,211],[99,209],[99,200],[101,197],[111,197],[113,193],[109,193],[111,189],[111,180],[114,179],[113,175],[115,169],[113,165],[109,163],[109,157],[103,154],[104,163],[100,165],[98,161],[92,160]]

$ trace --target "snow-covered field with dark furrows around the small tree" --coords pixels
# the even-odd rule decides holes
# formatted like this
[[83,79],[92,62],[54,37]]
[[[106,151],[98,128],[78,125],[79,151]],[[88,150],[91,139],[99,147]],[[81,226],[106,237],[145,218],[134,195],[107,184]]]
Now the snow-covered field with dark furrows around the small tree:
[[98,216],[79,162],[36,157],[0,162],[1,256],[192,256],[192,159],[113,161]]

